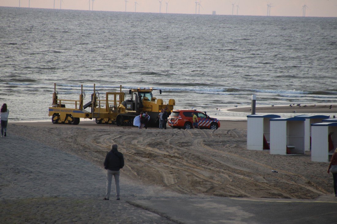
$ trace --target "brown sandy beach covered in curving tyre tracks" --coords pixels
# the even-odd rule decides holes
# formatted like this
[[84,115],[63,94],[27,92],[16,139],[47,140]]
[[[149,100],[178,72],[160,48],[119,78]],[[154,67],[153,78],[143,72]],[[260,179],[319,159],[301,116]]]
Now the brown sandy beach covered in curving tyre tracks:
[[[217,130],[163,129],[51,122],[10,123],[8,133],[77,155],[101,167],[111,144],[125,156],[132,181],[182,194],[314,199],[332,192],[327,163],[305,155],[246,149],[245,121]],[[278,173],[272,173],[272,170]]]

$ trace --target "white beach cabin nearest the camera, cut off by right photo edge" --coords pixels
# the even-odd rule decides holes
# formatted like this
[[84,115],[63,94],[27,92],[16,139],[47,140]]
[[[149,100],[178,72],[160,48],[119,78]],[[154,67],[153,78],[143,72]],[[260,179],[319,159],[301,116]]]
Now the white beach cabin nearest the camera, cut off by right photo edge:
[[311,124],[311,161],[328,162],[337,147],[337,122]]

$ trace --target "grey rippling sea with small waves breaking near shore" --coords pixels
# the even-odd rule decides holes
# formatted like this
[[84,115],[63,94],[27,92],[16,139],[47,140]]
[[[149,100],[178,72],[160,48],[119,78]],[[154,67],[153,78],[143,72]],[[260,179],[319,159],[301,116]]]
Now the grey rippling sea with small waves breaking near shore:
[[[0,104],[9,121],[48,120],[61,99],[154,90],[175,109],[336,104],[337,18],[0,7]],[[282,114],[294,116],[294,114]],[[332,114],[328,114],[332,115]]]

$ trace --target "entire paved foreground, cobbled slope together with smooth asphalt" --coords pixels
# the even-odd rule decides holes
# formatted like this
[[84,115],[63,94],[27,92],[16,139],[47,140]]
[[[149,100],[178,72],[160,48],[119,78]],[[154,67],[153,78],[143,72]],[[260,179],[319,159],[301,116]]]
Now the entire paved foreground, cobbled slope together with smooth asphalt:
[[[0,139],[0,223],[335,223],[337,197],[188,196],[131,182],[103,201],[105,170],[27,139]],[[112,191],[112,195],[114,189]],[[113,198],[113,197],[112,197]]]

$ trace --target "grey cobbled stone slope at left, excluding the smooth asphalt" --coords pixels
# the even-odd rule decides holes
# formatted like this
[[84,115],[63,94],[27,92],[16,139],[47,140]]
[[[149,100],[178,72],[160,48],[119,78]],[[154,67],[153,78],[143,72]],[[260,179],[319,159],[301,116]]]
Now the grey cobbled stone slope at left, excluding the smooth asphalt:
[[155,188],[121,178],[121,200],[102,200],[105,170],[78,156],[15,136],[0,153],[0,223],[172,223],[127,202]]

